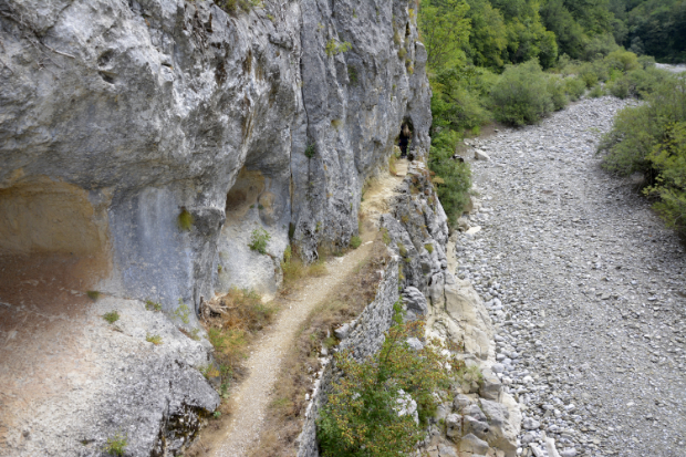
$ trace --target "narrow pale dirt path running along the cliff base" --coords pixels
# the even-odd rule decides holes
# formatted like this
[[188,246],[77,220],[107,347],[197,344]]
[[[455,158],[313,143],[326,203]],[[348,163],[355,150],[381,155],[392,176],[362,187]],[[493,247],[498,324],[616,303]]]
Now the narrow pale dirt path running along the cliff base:
[[[383,209],[384,201],[406,174],[406,160],[398,162],[397,170],[397,177],[387,176],[375,180],[365,194],[366,202],[363,204],[362,212],[367,217],[374,218]],[[285,304],[273,329],[252,344],[253,351],[246,361],[250,374],[231,393],[232,417],[226,435],[211,446],[211,456],[242,457],[258,444],[264,414],[272,401],[272,387],[279,381],[281,363],[298,330],[329,293],[345,284],[360,263],[368,258],[375,236],[374,230],[364,231],[360,248],[343,257],[331,258],[326,262],[325,276],[308,278],[295,292],[282,299]]]

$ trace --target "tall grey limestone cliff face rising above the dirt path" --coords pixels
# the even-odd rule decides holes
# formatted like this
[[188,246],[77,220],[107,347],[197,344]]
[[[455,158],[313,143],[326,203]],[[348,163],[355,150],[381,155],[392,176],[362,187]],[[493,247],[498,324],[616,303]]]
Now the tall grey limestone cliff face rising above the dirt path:
[[355,235],[403,121],[428,146],[413,8],[0,0],[0,255],[102,258],[92,289],[166,310],[273,293],[289,236],[314,259]]

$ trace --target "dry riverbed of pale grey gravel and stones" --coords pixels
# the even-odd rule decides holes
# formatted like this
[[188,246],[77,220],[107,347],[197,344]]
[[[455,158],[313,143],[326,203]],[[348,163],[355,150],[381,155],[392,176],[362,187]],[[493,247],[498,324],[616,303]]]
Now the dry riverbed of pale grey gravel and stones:
[[684,247],[595,154],[628,103],[584,100],[470,144],[490,160],[472,164],[457,276],[496,325],[518,455],[554,455],[550,438],[565,457],[686,455]]

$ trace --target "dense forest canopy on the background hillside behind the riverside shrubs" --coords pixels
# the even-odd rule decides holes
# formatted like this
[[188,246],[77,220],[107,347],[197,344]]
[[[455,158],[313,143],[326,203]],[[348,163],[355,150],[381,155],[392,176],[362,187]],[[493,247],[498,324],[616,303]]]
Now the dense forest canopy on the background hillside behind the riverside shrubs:
[[686,62],[686,0],[422,0],[419,21],[433,69],[464,59],[501,72],[532,58],[548,69],[617,45]]

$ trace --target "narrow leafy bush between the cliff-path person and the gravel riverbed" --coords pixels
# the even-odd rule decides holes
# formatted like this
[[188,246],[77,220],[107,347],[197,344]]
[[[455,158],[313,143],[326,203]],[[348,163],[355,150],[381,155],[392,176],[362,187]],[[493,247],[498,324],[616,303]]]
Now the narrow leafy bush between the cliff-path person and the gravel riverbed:
[[[443,205],[448,224],[454,226],[469,201],[471,170],[469,164],[453,158],[455,144],[459,135],[456,132],[443,131],[432,138],[429,169],[435,174],[436,193]],[[440,179],[436,179],[440,178]]]

